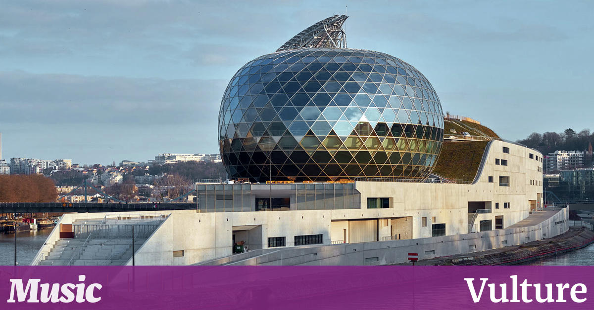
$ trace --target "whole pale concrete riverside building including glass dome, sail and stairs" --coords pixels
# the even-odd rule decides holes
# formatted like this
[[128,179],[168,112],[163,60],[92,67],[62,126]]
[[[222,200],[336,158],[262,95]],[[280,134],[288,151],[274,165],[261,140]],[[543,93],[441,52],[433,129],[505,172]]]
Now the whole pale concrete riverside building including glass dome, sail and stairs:
[[[64,215],[33,264],[131,264],[129,237],[111,244],[105,225],[138,225],[135,262],[150,265],[402,263],[567,231],[567,210],[542,210],[540,152],[476,121],[445,124],[412,65],[342,45],[346,18],[233,76],[219,145],[235,180],[195,184],[192,210]],[[444,138],[454,122],[481,135]]]

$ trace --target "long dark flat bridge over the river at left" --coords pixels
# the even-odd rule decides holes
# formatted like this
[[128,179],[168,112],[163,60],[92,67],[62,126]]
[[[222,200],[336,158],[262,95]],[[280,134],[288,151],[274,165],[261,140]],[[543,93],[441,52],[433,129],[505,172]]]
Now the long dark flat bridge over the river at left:
[[42,212],[130,212],[196,209],[196,203],[68,203],[68,202],[1,202],[0,213]]

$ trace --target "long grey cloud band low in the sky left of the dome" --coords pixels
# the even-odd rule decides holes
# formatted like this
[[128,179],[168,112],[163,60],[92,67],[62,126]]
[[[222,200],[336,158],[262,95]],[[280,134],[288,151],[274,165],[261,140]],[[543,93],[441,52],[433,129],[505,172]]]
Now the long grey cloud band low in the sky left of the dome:
[[196,123],[216,128],[228,81],[0,72],[0,122]]

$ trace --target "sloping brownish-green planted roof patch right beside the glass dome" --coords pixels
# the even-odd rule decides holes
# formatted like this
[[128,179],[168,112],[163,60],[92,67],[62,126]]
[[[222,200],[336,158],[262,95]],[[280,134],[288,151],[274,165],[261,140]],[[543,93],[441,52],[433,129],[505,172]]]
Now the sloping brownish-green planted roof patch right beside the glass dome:
[[472,182],[488,141],[448,141],[441,145],[433,172],[442,177]]

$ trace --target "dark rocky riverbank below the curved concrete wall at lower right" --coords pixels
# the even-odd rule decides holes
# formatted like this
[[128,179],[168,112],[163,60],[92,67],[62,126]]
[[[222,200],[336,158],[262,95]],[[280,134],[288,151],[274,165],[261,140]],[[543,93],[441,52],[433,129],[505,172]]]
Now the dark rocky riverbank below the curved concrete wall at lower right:
[[[557,237],[483,252],[419,260],[417,265],[516,265],[578,250],[594,243],[594,232],[570,228]],[[407,263],[410,264],[410,263]]]

